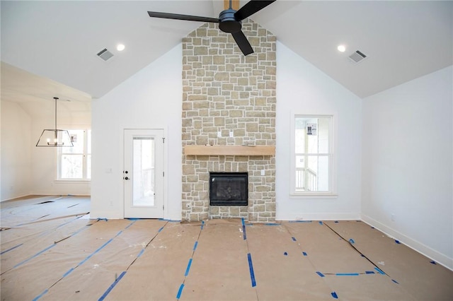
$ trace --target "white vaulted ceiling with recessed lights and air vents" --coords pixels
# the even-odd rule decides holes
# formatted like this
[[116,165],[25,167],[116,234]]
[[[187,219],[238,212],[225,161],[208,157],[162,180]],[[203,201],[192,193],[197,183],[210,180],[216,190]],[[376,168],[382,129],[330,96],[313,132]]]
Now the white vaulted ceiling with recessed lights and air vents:
[[[217,18],[222,9],[222,0],[2,0],[1,100],[100,98],[202,25],[147,11]],[[453,1],[277,0],[251,18],[360,98],[453,64]],[[113,59],[96,57],[104,48]],[[356,50],[367,59],[352,63]]]

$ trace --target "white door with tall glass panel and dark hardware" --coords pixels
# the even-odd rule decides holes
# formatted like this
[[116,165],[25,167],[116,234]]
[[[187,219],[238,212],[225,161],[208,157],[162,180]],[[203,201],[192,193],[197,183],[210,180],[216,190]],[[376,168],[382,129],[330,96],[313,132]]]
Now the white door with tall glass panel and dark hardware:
[[164,218],[163,139],[163,129],[125,129],[125,218]]

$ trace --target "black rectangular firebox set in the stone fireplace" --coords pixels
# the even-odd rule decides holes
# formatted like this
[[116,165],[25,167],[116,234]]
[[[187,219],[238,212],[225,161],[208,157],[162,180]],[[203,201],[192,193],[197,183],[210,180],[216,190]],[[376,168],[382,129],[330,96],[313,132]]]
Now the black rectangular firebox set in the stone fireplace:
[[211,206],[247,206],[247,172],[210,172]]

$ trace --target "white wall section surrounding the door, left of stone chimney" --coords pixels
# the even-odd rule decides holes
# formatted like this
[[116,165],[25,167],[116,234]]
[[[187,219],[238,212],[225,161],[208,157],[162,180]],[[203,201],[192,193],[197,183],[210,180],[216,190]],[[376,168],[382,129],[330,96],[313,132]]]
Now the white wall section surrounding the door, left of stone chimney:
[[[123,218],[123,131],[166,130],[166,209],[164,218],[181,218],[182,49],[134,74],[110,93],[93,100],[91,218]],[[112,170],[111,173],[106,170]]]

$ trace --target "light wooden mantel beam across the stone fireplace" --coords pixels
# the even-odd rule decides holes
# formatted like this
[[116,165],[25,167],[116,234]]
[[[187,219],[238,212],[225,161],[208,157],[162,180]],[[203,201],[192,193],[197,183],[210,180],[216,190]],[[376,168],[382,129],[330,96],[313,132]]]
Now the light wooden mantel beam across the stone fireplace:
[[184,146],[184,155],[275,155],[275,146]]

